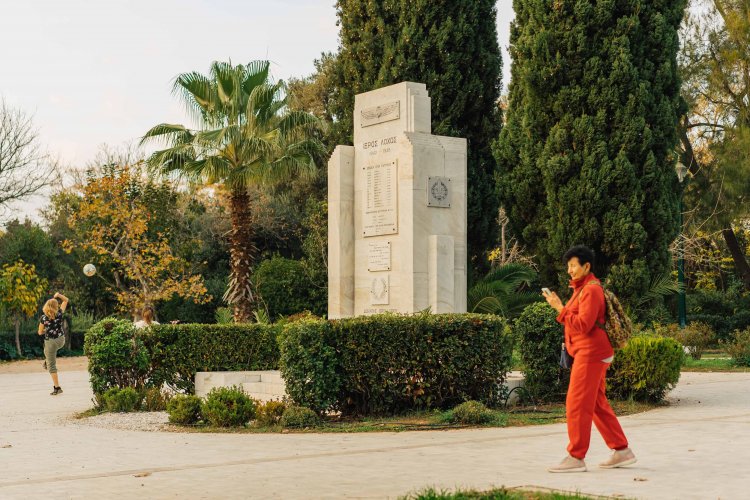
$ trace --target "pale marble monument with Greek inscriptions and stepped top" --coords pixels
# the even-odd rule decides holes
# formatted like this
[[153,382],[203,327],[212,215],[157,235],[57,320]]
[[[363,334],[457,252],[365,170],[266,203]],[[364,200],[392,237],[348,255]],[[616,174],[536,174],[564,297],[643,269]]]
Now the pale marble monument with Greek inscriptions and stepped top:
[[432,135],[424,84],[356,96],[328,164],[328,316],[466,312],[466,140]]

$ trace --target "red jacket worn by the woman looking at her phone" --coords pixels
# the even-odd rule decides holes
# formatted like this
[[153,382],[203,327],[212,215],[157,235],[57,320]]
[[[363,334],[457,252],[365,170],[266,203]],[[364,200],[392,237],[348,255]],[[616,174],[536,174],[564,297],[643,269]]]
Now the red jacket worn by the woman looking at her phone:
[[[594,273],[570,282],[573,296],[557,316],[565,326],[565,349],[576,361],[593,362],[614,354],[607,332],[597,326],[605,322],[604,290]],[[580,296],[579,296],[580,295]]]

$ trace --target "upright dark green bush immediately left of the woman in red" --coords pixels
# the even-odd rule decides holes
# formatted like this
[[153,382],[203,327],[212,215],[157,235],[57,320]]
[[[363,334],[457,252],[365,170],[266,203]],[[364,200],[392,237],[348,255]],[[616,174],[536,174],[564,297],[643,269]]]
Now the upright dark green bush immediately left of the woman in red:
[[524,366],[524,387],[535,401],[563,401],[568,390],[570,371],[559,364],[563,327],[556,317],[549,304],[540,302],[526,307],[513,326]]

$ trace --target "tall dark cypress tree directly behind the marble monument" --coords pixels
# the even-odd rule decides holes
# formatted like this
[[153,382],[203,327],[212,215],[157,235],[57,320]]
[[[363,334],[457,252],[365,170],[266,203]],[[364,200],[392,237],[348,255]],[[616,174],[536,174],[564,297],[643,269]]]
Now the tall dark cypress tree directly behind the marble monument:
[[351,143],[354,96],[401,81],[432,97],[432,131],[468,140],[469,255],[495,242],[497,106],[502,58],[494,0],[339,0],[341,47],[330,101],[334,135]]

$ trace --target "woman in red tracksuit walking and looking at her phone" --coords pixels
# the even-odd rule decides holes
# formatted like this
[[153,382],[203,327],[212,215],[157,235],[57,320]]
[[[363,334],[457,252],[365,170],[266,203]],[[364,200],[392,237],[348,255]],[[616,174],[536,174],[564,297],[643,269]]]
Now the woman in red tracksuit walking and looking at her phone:
[[605,322],[604,291],[591,272],[593,250],[575,246],[563,257],[568,265],[573,295],[565,306],[554,292],[545,294],[547,302],[559,313],[557,321],[565,327],[565,348],[575,362],[565,400],[568,423],[568,456],[550,472],[585,472],[583,459],[591,441],[591,422],[596,425],[612,456],[599,467],[612,469],[636,462],[605,394],[606,373],[614,359]]

